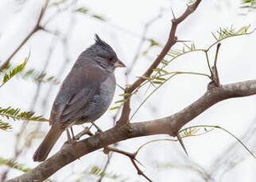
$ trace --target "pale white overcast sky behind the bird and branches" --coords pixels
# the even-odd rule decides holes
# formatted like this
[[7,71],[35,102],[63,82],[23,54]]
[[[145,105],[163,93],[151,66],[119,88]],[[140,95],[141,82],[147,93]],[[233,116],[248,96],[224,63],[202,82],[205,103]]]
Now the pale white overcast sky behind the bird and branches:
[[[23,3],[25,2],[25,3]],[[246,13],[245,10],[239,9],[240,1],[203,1],[196,12],[188,17],[177,28],[176,35],[180,40],[192,40],[196,47],[205,48],[212,44],[215,40],[211,36],[211,32],[215,32],[219,27],[230,27],[234,25],[235,28],[240,28],[244,25],[251,25],[250,30],[256,27],[256,16],[254,12],[248,13],[246,16],[240,16],[239,13]],[[21,0],[2,0],[0,1],[0,61],[6,60],[14,51],[17,45],[25,38],[31,31],[37,21],[37,16],[40,12],[44,1],[21,1]],[[91,13],[102,15],[107,21],[99,21],[92,18],[89,14],[72,13],[72,9],[86,7],[90,9]],[[94,35],[98,33],[99,36],[114,48],[118,57],[127,66],[134,66],[134,70],[129,75],[129,83],[134,82],[137,76],[142,75],[144,70],[153,58],[159,54],[161,47],[152,48],[149,51],[149,58],[141,55],[135,65],[131,65],[134,54],[138,49],[138,44],[142,36],[142,31],[146,22],[153,17],[156,17],[160,11],[163,16],[158,21],[150,25],[146,36],[156,40],[161,45],[169,35],[171,26],[172,13],[170,7],[173,8],[176,16],[184,12],[186,8],[185,1],[179,0],[160,0],[160,1],[104,1],[104,0],[87,0],[78,1],[75,6],[71,6],[66,12],[60,13],[53,21],[51,21],[46,28],[52,32],[58,30],[61,33],[66,33],[70,29],[72,32],[68,36],[68,52],[64,51],[59,38],[54,38],[47,32],[37,32],[29,41],[21,48],[20,51],[11,60],[11,63],[21,63],[31,50],[31,56],[27,68],[35,68],[41,70],[45,64],[46,56],[48,55],[49,47],[53,47],[52,57],[49,60],[46,72],[48,75],[57,75],[62,73],[60,80],[68,74],[72,64],[75,63],[76,58],[81,51],[94,44]],[[45,13],[44,22],[54,13],[54,8],[48,9]],[[69,28],[73,26],[73,28]],[[219,51],[219,77],[222,84],[231,82],[241,82],[248,79],[256,78],[256,61],[255,61],[255,47],[256,34],[249,36],[239,36],[223,41]],[[54,39],[52,41],[52,39]],[[142,51],[149,47],[149,42],[145,42],[142,46]],[[180,48],[181,44],[176,44],[174,47]],[[64,64],[65,54],[68,55],[71,62],[67,63],[64,70],[60,70],[61,65]],[[211,63],[214,59],[215,47],[211,50]],[[65,63],[66,64],[66,63]],[[192,53],[181,56],[176,59],[167,70],[184,70],[195,71],[209,74],[208,66],[203,53]],[[116,78],[119,85],[125,85],[125,69],[116,70]],[[2,78],[1,78],[2,79]],[[196,75],[178,75],[171,81],[167,82],[154,93],[152,97],[145,103],[138,114],[134,116],[133,122],[140,122],[149,119],[157,119],[164,116],[169,116],[180,109],[191,104],[197,98],[202,96],[207,89],[208,78]],[[52,93],[48,95],[47,104],[42,107],[42,100],[47,94],[48,88],[52,86]],[[37,115],[49,116],[52,102],[56,97],[56,93],[60,85],[51,85],[44,83],[41,85],[41,93],[39,94],[37,104],[33,110]],[[0,106],[14,108],[22,108],[22,110],[29,110],[33,104],[33,96],[36,93],[37,84],[21,78],[12,79],[0,89]],[[153,88],[151,88],[153,89]],[[122,93],[121,89],[116,89],[114,100],[120,100],[118,94]],[[149,92],[148,92],[149,93]],[[147,94],[148,94],[147,93]],[[142,89],[138,96],[132,100],[132,113],[138,108],[142,99],[145,98],[145,90]],[[111,108],[117,104],[111,104]],[[225,100],[221,103],[215,104],[206,112],[193,119],[188,123],[188,126],[198,124],[219,125],[231,131],[236,136],[242,136],[246,133],[248,128],[255,127],[255,107],[256,96],[235,98]],[[107,130],[112,126],[111,117],[114,116],[115,111],[108,110],[99,121],[99,127]],[[11,158],[14,157],[15,136],[14,133],[20,130],[22,121],[10,122],[13,125],[11,132],[0,131],[0,157]],[[28,131],[35,128],[35,123],[27,125]],[[41,131],[48,131],[48,124],[41,123]],[[76,127],[76,131],[80,131],[81,127]],[[44,137],[43,133],[41,137]],[[145,141],[154,138],[169,138],[167,135],[150,136],[145,138],[134,138],[127,141],[120,142],[118,148],[134,152],[138,146],[141,146]],[[251,138],[255,138],[252,135]],[[60,149],[60,146],[66,139],[63,135],[61,139],[54,146],[50,155],[54,154]],[[32,155],[40,144],[42,138],[33,140],[32,148],[18,158],[19,163],[26,166],[37,166],[33,162]],[[176,142],[155,142],[145,146],[145,148],[138,154],[138,160],[142,161],[146,167],[142,170],[153,181],[204,181],[201,177],[189,170],[179,168],[163,168],[163,165],[177,165],[188,164],[193,161],[200,165],[206,171],[210,172],[212,164],[218,157],[225,156],[223,153],[228,146],[236,142],[235,138],[223,133],[223,131],[211,131],[207,135],[196,138],[185,138],[184,144],[188,150],[189,158],[185,157],[184,151]],[[244,141],[250,148],[255,150],[255,141]],[[239,146],[239,145],[238,145]],[[250,182],[256,179],[255,169],[256,163],[242,146],[236,146],[235,159],[239,161],[240,158],[246,157],[239,165],[226,173],[221,181],[244,181]],[[91,165],[103,165],[106,162],[107,156],[101,150],[95,151],[82,157],[80,160],[73,162],[71,165],[65,166],[54,174],[51,179],[58,181],[72,181],[77,176],[73,175],[67,180],[67,176],[73,171],[76,173],[82,172]],[[219,166],[223,168],[225,164]],[[6,167],[0,166],[0,172],[4,171]],[[72,170],[71,170],[72,169]],[[145,181],[141,176],[137,175],[134,166],[131,165],[130,160],[119,154],[114,154],[111,161],[109,171],[121,174],[129,178],[128,181]],[[17,170],[12,170],[10,177],[21,174]],[[216,178],[219,179],[219,178]],[[95,181],[93,178],[84,178],[84,181]],[[105,178],[103,181],[112,181]],[[220,181],[220,180],[219,180]]]

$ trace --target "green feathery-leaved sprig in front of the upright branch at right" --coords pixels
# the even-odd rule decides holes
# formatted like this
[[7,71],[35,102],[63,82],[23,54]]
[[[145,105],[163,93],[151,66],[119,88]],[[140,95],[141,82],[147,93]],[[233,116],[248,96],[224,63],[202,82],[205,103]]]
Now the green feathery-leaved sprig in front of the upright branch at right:
[[[146,85],[149,83],[150,85],[153,85],[155,89],[147,97],[145,97],[145,100],[142,101],[142,103],[138,106],[138,108],[135,110],[134,114],[131,116],[130,119],[134,117],[134,115],[138,112],[138,109],[142,107],[142,104],[145,103],[146,100],[149,99],[149,97],[156,92],[157,89],[161,87],[161,85],[165,84],[165,82],[169,81],[171,78],[178,74],[194,74],[194,75],[201,75],[201,76],[206,76],[211,79],[211,75],[209,74],[204,74],[204,73],[198,73],[198,72],[188,72],[188,71],[173,71],[169,72],[168,70],[165,69],[166,66],[169,66],[170,63],[172,63],[174,60],[179,58],[182,55],[191,53],[193,51],[203,51],[206,55],[206,61],[208,63],[208,68],[211,72],[211,65],[208,59],[208,51],[213,47],[215,44],[218,44],[220,41],[226,40],[227,38],[234,37],[234,36],[243,36],[243,35],[248,35],[252,32],[248,32],[248,28],[250,28],[250,25],[242,26],[238,30],[234,28],[233,25],[229,28],[219,28],[215,33],[211,33],[212,36],[215,38],[215,42],[208,46],[205,49],[202,48],[197,48],[194,43],[192,44],[184,44],[181,50],[179,49],[170,49],[168,52],[169,58],[167,59],[162,59],[161,60],[161,65],[157,67],[156,69],[153,69],[154,74],[151,75],[150,77],[145,77],[143,76],[142,78],[145,79],[147,82],[142,83],[138,87],[138,89],[142,88],[142,86]],[[169,60],[168,60],[169,59]],[[138,89],[135,90],[135,92],[138,92]],[[118,107],[114,107],[118,108]]]

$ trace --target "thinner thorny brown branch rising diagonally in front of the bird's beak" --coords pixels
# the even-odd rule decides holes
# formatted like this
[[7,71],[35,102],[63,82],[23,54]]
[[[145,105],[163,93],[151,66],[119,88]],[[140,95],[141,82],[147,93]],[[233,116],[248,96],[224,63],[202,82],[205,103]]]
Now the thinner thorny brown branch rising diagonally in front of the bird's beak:
[[[170,48],[176,44],[177,38],[175,36],[176,34],[176,28],[177,26],[184,21],[186,17],[188,17],[191,13],[193,13],[197,6],[200,4],[201,0],[196,0],[196,2],[190,6],[187,7],[187,9],[184,11],[184,13],[178,17],[173,19],[172,21],[172,28],[169,32],[169,38],[165,44],[165,47],[161,50],[161,53],[157,56],[157,59],[153,61],[151,66],[147,70],[145,70],[145,73],[143,76],[149,77],[153,73],[153,69],[157,68],[157,66],[161,63],[161,60],[165,58],[165,55],[168,53]],[[143,82],[145,82],[145,79],[143,77],[138,78],[137,81],[135,81],[128,89],[126,89],[126,93],[132,93],[138,86],[140,86]],[[118,120],[118,125],[126,124],[129,122],[129,116],[130,116],[130,97],[125,97],[126,102],[123,105],[122,108],[122,115],[120,119]]]

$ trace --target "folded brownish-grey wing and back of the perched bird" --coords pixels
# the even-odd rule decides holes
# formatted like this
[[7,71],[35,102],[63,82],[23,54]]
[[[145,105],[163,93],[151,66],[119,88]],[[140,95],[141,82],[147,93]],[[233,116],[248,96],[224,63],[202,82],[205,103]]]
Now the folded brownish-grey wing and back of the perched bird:
[[86,115],[88,106],[99,93],[99,85],[108,78],[106,71],[96,66],[74,66],[65,78],[52,105],[51,123],[73,121]]

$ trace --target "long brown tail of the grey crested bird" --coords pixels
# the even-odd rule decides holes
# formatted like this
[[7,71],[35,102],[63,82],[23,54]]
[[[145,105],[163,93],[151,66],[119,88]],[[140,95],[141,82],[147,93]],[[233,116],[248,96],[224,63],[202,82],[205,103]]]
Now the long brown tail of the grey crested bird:
[[44,141],[41,142],[41,145],[37,148],[35,154],[33,154],[33,161],[45,161],[52,150],[52,146],[54,146],[58,138],[60,138],[63,131],[64,130],[57,127],[57,125],[52,125],[50,131],[48,131],[48,134],[45,136]]

